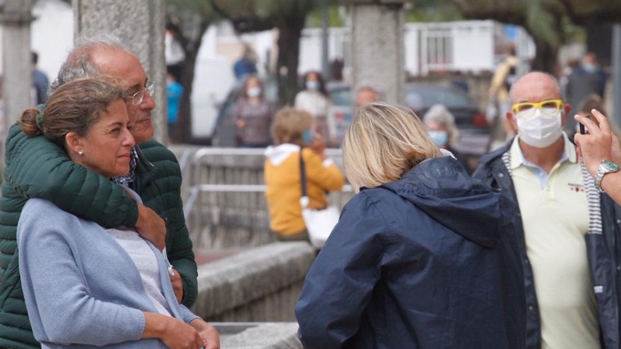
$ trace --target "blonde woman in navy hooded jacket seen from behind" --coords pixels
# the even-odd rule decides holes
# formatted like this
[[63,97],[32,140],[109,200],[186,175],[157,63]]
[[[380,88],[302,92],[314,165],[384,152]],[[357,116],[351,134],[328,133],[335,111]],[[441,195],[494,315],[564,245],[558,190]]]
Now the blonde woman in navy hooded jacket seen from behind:
[[306,276],[304,348],[524,348],[513,204],[402,108],[362,107],[343,155],[359,192]]

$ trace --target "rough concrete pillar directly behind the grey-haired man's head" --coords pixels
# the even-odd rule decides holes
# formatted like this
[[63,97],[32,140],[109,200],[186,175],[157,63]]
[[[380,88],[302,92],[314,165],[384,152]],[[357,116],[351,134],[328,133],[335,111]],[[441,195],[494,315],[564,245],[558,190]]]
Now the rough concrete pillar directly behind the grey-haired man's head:
[[166,61],[164,0],[73,0],[75,34],[104,30],[117,35],[137,55],[149,80],[155,81],[152,111],[155,139],[166,141]]

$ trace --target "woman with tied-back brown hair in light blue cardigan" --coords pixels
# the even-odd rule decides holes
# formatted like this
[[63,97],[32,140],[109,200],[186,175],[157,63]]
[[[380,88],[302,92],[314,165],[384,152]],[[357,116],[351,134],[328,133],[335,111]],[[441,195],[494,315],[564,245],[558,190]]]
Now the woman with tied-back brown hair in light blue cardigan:
[[[23,112],[22,130],[62,146],[75,166],[125,175],[135,145],[125,97],[115,81],[77,79],[57,88],[42,112]],[[47,180],[71,186],[53,171]],[[43,348],[219,348],[215,328],[177,302],[165,253],[133,228],[105,229],[30,199],[17,245],[30,325]]]

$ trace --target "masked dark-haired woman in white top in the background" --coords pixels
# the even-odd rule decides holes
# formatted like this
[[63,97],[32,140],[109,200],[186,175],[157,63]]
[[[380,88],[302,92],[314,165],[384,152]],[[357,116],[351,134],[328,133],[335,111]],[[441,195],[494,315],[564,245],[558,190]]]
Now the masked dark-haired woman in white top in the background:
[[304,75],[302,91],[295,96],[295,108],[313,115],[313,129],[324,137],[328,146],[334,146],[336,122],[332,113],[332,101],[326,90],[322,74],[311,71]]

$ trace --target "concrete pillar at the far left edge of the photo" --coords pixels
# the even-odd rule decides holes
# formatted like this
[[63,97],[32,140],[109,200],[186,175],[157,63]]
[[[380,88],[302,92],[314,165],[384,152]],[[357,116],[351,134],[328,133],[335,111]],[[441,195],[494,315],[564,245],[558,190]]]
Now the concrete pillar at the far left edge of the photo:
[[[32,107],[32,70],[30,68],[30,0],[3,1],[2,70],[5,134]],[[4,141],[2,141],[4,143]]]

